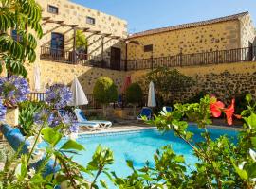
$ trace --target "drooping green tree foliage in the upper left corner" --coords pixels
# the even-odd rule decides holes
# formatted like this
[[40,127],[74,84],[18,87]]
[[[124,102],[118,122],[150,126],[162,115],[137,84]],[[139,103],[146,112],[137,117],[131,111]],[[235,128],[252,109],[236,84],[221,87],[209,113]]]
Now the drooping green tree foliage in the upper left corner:
[[[35,0],[1,0],[0,1],[0,60],[6,64],[11,74],[27,77],[24,62],[34,62],[36,59],[36,38],[43,35],[41,8]],[[9,30],[15,29],[17,40],[9,35]],[[0,64],[0,73],[2,72]]]

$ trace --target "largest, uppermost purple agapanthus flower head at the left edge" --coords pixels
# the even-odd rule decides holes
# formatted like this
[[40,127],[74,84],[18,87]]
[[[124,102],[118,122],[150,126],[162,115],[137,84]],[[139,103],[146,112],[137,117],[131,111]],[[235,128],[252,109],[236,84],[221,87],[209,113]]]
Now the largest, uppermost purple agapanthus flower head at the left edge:
[[29,94],[29,85],[25,78],[0,77],[0,95],[5,104],[15,106],[17,103],[27,100],[27,94]]

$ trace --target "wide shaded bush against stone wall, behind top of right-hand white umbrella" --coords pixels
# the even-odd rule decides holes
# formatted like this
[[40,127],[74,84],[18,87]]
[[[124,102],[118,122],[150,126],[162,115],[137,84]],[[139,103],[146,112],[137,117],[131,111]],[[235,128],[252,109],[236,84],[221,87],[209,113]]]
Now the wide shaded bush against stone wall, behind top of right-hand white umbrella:
[[161,67],[153,70],[143,77],[144,85],[148,86],[153,81],[157,94],[174,94],[192,87],[194,79],[181,74],[176,69]]

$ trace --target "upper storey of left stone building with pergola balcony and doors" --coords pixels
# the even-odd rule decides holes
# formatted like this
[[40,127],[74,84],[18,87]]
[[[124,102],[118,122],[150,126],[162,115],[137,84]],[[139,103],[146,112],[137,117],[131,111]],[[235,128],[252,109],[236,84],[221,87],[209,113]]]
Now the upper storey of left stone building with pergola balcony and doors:
[[[119,69],[122,39],[127,37],[127,22],[96,9],[89,9],[68,0],[46,0],[38,3],[43,9],[44,36],[40,40],[41,59],[73,63],[74,33],[81,30],[87,48],[76,60]],[[112,64],[110,63],[112,62]]]

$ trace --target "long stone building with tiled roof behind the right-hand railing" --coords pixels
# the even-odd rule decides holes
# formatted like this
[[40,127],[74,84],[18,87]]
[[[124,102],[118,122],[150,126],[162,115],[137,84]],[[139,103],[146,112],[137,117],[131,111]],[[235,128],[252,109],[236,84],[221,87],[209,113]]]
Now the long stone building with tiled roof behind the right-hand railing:
[[129,36],[128,60],[244,48],[255,43],[248,12],[208,21],[151,29]]

